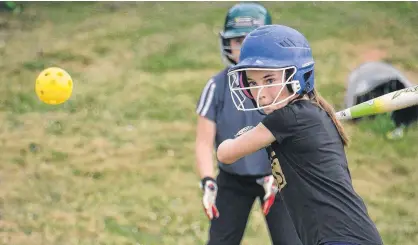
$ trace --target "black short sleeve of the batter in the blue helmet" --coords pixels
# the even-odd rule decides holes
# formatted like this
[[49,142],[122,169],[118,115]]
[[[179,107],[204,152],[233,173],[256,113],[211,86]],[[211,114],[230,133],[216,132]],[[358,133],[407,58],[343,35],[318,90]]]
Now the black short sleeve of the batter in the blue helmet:
[[294,135],[297,128],[295,113],[287,106],[265,116],[261,123],[274,135],[279,144]]

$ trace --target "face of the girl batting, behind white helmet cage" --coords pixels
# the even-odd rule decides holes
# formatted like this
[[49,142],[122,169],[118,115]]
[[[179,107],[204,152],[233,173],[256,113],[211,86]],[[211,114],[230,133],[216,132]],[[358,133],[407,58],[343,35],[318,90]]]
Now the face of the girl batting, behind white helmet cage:
[[254,100],[257,101],[259,107],[268,106],[263,108],[264,113],[270,114],[289,103],[289,98],[293,93],[290,93],[286,87],[284,70],[247,70],[246,75]]

